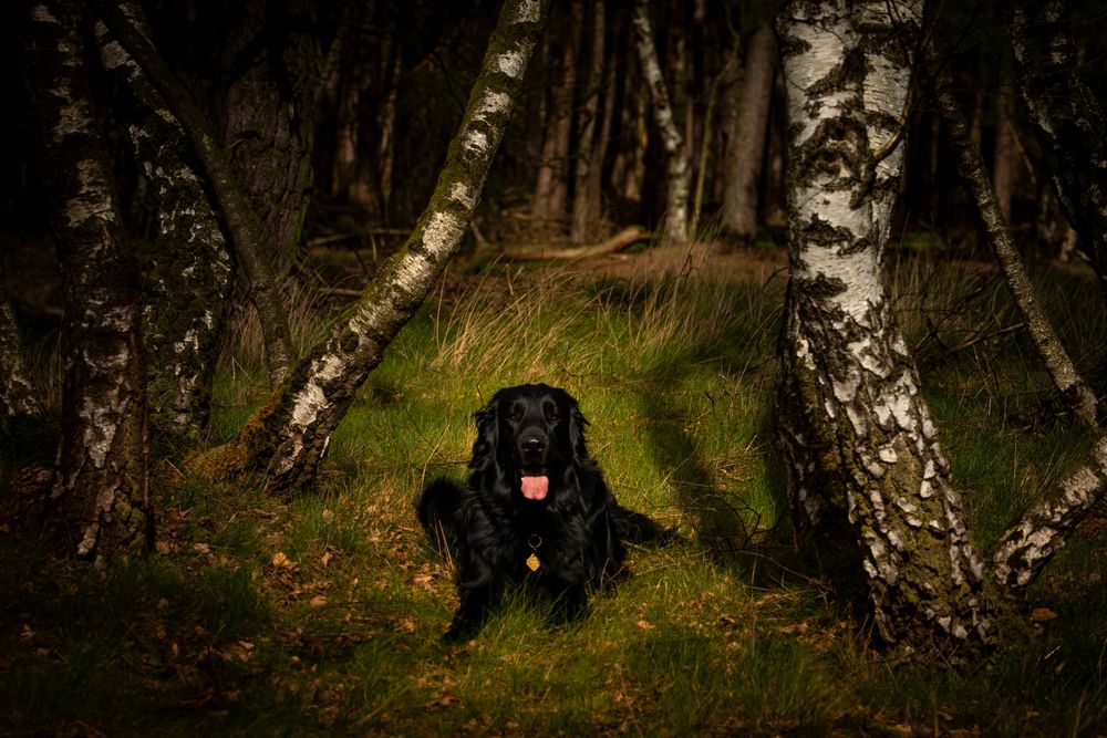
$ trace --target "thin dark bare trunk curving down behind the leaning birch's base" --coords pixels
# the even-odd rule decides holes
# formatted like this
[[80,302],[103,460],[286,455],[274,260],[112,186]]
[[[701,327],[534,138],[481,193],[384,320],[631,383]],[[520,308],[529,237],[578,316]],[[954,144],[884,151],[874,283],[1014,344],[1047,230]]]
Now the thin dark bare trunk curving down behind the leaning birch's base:
[[281,304],[272,270],[261,256],[261,237],[254,206],[236,179],[227,153],[218,144],[211,126],[180,82],[173,76],[157,51],[135,30],[112,0],[93,0],[93,2],[111,34],[138,63],[166,106],[173,111],[174,117],[188,134],[196,155],[207,171],[211,189],[231,235],[235,256],[246,270],[250,301],[261,318],[270,380],[277,384],[288,372],[293,352],[288,316]]

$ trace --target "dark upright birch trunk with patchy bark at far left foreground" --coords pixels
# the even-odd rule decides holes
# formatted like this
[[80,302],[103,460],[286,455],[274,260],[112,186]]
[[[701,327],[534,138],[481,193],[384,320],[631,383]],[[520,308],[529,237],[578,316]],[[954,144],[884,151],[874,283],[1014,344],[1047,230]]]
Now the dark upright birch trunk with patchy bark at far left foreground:
[[65,295],[62,438],[50,495],[76,553],[145,550],[146,407],[139,271],[124,243],[103,137],[96,129],[82,19],[71,0],[31,11],[28,60],[44,170],[58,200],[55,236]]

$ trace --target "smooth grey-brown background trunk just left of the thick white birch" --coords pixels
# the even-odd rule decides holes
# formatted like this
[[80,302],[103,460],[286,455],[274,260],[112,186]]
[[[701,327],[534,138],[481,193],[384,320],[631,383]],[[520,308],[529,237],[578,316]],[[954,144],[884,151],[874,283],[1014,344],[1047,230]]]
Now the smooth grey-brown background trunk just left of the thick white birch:
[[726,149],[723,228],[741,242],[757,235],[757,184],[765,160],[768,111],[776,75],[776,40],[769,23],[749,38],[734,132]]

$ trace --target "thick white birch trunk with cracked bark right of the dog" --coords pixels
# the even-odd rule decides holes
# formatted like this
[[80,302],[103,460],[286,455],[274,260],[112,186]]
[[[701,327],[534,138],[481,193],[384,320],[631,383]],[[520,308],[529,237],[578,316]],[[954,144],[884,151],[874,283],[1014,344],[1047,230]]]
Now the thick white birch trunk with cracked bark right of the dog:
[[993,603],[882,274],[922,0],[794,1],[779,21],[790,279],[778,432],[800,536],[853,550],[880,640],[970,655]]

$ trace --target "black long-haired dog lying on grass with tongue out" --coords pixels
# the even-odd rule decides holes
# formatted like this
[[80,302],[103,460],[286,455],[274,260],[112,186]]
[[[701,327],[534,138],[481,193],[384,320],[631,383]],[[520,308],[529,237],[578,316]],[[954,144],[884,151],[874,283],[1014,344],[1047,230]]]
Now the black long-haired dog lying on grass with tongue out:
[[558,620],[579,617],[589,591],[622,573],[623,540],[668,538],[656,522],[615,502],[584,448],[588,422],[563,389],[500,389],[476,420],[468,484],[433,481],[416,506],[457,572],[461,606],[447,640],[475,634],[519,588],[551,604]]

